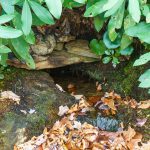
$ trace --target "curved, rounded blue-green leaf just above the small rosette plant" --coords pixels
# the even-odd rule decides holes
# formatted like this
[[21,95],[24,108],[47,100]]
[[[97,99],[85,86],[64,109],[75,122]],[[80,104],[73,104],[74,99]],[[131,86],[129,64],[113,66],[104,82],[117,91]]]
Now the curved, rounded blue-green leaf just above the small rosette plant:
[[103,42],[108,49],[114,49],[120,46],[121,39],[118,37],[114,42],[109,39],[108,32],[105,32],[103,36]]

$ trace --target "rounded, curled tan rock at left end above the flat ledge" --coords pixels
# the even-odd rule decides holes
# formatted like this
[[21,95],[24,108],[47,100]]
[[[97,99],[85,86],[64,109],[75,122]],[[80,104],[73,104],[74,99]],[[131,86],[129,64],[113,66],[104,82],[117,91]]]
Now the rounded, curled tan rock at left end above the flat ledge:
[[48,55],[52,53],[56,47],[56,40],[53,35],[46,37],[45,42],[39,41],[37,44],[31,46],[31,51],[36,55]]

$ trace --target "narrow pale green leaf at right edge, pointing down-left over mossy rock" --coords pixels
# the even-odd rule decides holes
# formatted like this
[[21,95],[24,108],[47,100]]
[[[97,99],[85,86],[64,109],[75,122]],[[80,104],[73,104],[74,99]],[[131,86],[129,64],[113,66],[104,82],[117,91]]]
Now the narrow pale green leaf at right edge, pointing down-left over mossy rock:
[[144,65],[149,61],[150,61],[150,52],[145,53],[142,56],[140,56],[140,58],[134,62],[133,66]]

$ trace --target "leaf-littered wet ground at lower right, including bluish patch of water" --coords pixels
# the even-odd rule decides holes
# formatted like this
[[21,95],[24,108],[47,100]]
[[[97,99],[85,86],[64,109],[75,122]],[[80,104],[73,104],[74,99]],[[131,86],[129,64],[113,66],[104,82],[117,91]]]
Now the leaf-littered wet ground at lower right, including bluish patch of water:
[[103,92],[98,82],[95,95],[79,95],[71,83],[67,90],[78,102],[60,106],[60,120],[52,128],[45,127],[43,134],[14,150],[150,150],[150,100]]

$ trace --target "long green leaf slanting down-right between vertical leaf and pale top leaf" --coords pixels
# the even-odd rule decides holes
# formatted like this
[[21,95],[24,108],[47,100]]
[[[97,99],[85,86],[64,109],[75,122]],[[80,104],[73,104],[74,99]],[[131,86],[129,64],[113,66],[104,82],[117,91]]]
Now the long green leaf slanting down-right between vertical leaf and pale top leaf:
[[34,1],[29,1],[34,13],[37,15],[37,17],[47,23],[47,24],[54,24],[54,20],[53,17],[51,16],[51,14],[49,13],[49,11],[44,8],[43,6],[41,6],[40,4],[34,2]]

